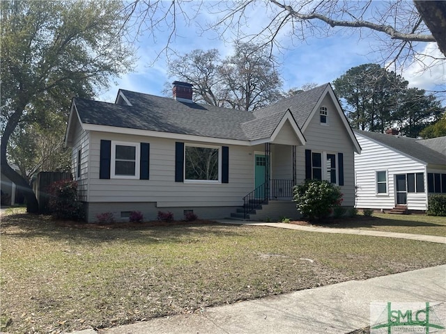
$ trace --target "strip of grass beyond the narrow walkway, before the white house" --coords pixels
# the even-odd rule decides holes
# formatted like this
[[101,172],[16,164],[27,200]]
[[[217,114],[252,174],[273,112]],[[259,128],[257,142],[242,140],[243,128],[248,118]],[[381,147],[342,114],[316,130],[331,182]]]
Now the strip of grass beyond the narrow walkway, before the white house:
[[371,217],[338,219],[330,224],[336,228],[360,228],[410,234],[426,234],[446,237],[446,217],[424,214],[373,214]]

